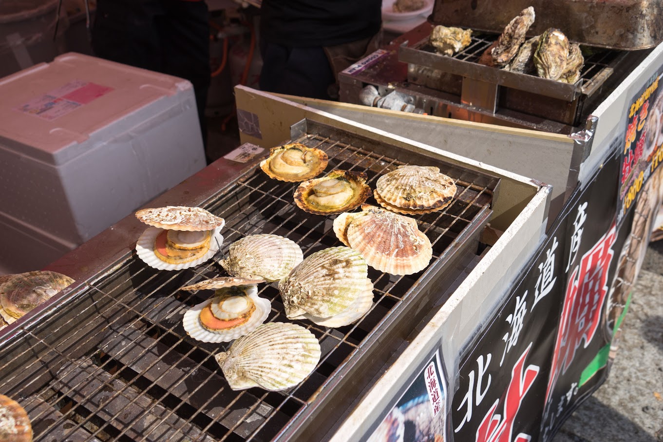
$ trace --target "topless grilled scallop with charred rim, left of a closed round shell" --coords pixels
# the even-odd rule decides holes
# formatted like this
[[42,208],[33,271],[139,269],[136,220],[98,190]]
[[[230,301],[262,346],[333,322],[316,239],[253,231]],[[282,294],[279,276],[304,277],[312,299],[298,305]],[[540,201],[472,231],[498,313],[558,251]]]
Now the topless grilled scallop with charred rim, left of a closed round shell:
[[294,192],[294,202],[304,212],[326,215],[359,207],[371,196],[363,172],[331,171],[323,178],[304,181]]

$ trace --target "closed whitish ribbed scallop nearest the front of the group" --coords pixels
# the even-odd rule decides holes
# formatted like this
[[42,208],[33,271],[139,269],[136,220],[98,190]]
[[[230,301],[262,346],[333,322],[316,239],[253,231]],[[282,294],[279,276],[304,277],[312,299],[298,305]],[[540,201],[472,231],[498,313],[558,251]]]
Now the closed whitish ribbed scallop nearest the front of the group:
[[304,327],[267,323],[214,358],[233,390],[278,391],[302,382],[318,365],[320,354],[318,339]]

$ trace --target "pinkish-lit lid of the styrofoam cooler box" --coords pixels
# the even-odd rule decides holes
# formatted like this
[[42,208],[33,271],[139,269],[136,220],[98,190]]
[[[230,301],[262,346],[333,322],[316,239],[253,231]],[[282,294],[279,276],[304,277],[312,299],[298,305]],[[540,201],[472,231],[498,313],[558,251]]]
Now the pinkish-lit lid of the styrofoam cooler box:
[[0,145],[53,163],[72,143],[188,88],[181,78],[70,52],[0,79]]

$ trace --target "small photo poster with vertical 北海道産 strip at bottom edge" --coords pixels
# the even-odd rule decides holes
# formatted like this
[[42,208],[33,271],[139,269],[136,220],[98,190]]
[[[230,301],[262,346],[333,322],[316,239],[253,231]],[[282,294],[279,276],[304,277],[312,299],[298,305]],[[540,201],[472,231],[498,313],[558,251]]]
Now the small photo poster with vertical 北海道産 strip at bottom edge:
[[368,435],[368,442],[443,442],[447,386],[440,350],[430,355],[422,370]]

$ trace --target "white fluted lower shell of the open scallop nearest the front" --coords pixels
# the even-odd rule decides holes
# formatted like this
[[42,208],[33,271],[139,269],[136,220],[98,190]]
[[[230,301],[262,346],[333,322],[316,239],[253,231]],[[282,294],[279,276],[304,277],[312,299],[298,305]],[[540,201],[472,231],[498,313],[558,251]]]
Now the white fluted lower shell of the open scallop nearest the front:
[[[255,288],[255,286],[253,286],[253,288]],[[257,293],[257,290],[255,293]],[[258,295],[255,295],[253,291],[251,291],[249,297],[251,297],[255,304],[255,311],[253,311],[249,321],[246,323],[239,325],[234,329],[218,331],[210,331],[203,327],[200,323],[200,312],[216,299],[216,297],[214,297],[213,299],[208,299],[207,301],[194,305],[194,307],[184,313],[184,319],[182,319],[184,330],[189,336],[196,340],[200,340],[201,342],[230,342],[233,339],[239,338],[239,336],[243,336],[255,330],[256,327],[264,323],[265,319],[269,316],[271,303],[269,302],[269,299],[261,298]]]

